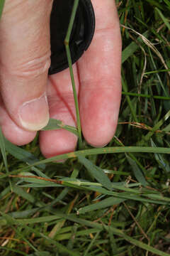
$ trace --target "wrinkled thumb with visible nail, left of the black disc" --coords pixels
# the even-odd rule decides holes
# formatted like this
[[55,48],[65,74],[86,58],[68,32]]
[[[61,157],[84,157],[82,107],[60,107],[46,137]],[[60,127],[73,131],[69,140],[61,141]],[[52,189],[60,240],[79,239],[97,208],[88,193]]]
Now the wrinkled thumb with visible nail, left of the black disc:
[[52,0],[6,0],[0,22],[1,96],[18,126],[37,131],[49,119]]

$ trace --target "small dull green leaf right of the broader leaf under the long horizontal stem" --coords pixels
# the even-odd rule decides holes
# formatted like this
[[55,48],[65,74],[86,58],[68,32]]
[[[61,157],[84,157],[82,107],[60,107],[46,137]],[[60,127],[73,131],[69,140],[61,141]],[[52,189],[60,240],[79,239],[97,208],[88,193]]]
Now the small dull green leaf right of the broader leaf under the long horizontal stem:
[[147,181],[145,180],[145,177],[143,176],[142,171],[140,170],[140,167],[137,166],[135,160],[133,160],[127,154],[126,154],[126,158],[128,159],[130,166],[132,166],[132,171],[137,181],[139,181],[142,184],[142,186],[147,186]]

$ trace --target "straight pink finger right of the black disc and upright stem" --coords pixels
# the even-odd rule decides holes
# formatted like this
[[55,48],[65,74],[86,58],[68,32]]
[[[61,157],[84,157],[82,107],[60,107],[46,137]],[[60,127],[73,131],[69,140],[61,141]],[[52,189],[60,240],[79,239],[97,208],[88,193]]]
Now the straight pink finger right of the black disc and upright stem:
[[92,0],[96,31],[78,62],[80,115],[84,137],[93,146],[112,139],[118,122],[121,79],[121,37],[113,0]]

